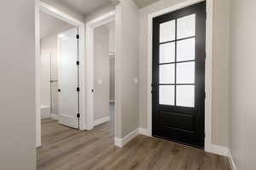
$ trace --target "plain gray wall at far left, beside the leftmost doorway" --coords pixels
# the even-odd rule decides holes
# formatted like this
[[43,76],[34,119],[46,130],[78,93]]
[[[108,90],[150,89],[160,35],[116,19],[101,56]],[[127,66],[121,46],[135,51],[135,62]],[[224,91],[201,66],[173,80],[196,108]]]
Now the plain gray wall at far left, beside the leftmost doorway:
[[[0,169],[36,169],[35,1],[0,6]],[[17,29],[19,28],[19,29]]]

